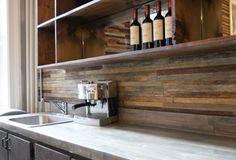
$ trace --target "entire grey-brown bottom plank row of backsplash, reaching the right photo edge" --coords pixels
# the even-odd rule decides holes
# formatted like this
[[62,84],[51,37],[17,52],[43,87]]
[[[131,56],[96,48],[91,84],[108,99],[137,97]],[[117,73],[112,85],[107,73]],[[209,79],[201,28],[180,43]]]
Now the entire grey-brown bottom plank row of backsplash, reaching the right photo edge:
[[120,109],[120,122],[236,137],[236,118],[137,109]]

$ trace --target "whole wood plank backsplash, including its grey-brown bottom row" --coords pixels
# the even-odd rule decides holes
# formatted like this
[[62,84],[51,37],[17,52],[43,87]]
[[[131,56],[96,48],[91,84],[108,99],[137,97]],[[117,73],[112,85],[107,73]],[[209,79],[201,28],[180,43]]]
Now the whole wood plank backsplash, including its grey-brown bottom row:
[[236,137],[236,51],[45,69],[43,96],[76,103],[83,79],[118,82],[121,122]]

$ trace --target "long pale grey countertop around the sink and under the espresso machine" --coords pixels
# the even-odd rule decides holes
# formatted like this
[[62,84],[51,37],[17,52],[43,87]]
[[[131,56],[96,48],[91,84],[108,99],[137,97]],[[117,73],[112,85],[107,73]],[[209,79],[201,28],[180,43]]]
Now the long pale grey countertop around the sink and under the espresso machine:
[[236,160],[236,139],[125,124],[75,122],[26,127],[0,117],[0,128],[89,159]]

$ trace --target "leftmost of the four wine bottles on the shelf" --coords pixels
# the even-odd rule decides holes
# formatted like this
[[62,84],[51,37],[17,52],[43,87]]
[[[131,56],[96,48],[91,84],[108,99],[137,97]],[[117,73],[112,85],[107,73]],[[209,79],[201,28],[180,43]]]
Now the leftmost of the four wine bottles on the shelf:
[[130,49],[132,51],[141,49],[141,25],[138,22],[138,9],[133,9],[133,21],[130,25]]

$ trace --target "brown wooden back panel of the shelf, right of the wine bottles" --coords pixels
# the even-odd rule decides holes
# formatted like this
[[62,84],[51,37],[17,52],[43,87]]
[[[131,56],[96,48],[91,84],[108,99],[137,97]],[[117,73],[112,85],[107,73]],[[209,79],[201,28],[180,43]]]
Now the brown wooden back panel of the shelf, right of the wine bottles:
[[229,0],[176,0],[175,7],[177,43],[230,35]]

